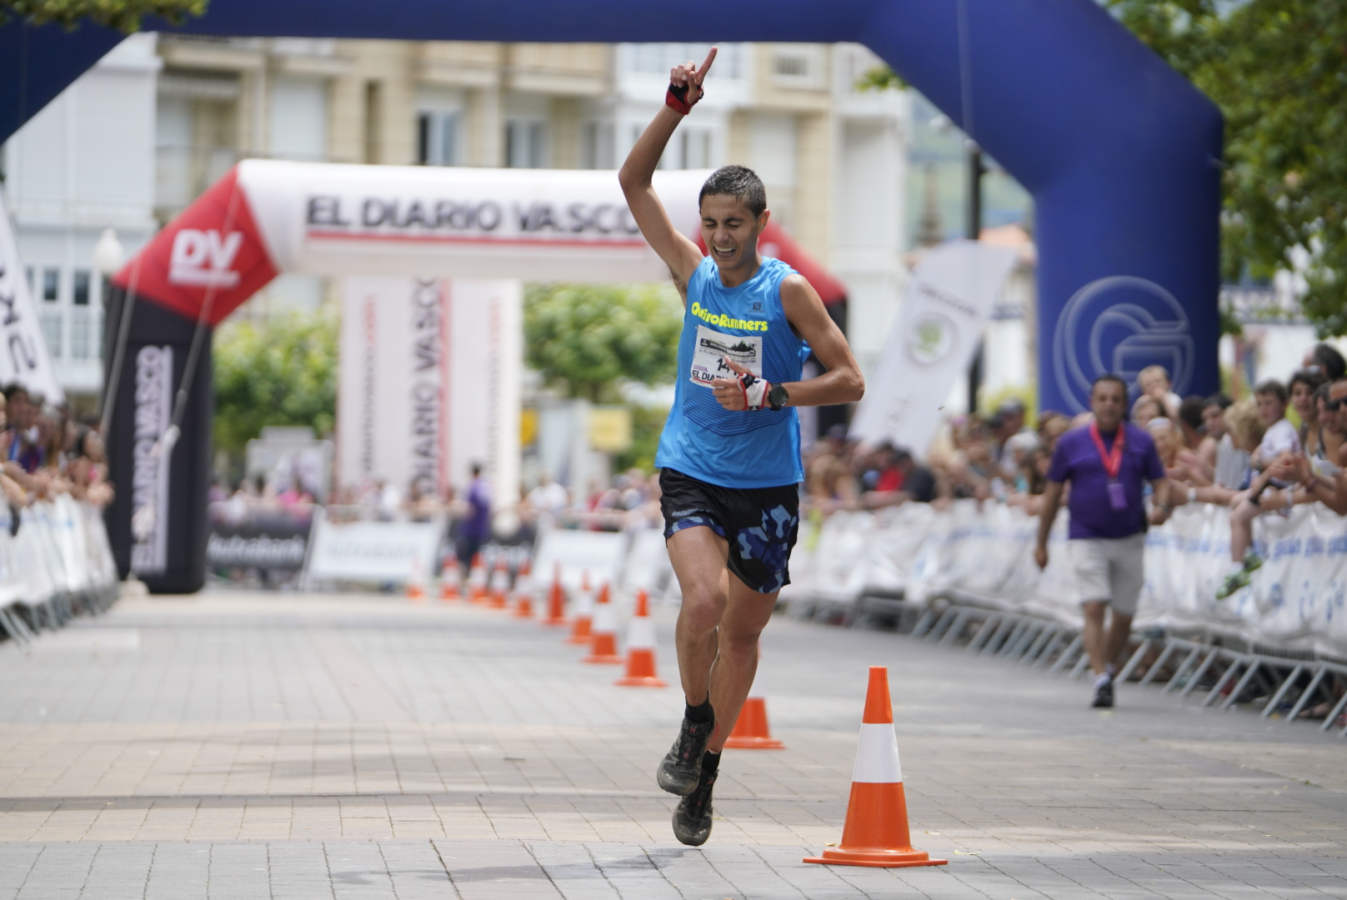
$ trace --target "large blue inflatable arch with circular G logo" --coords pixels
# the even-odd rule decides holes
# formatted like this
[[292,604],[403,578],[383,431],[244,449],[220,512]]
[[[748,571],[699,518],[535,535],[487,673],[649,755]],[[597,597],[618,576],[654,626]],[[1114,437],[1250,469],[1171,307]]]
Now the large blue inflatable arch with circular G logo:
[[[414,40],[863,43],[1034,198],[1041,408],[1080,410],[1095,375],[1130,376],[1152,362],[1171,371],[1179,393],[1218,388],[1220,113],[1095,0],[834,0],[824,7],[740,0],[731,8],[710,0],[213,0],[205,16],[180,27],[147,27]],[[0,139],[119,38],[89,26],[74,32],[15,22],[0,27],[0,78],[9,88],[0,97]],[[176,338],[195,318],[154,303],[137,309],[156,313],[154,329]],[[209,379],[194,384],[201,396],[193,407],[209,410],[202,387]],[[109,446],[120,446],[116,437]],[[198,517],[203,484],[199,492],[180,497]],[[112,531],[119,527],[128,524],[114,521]],[[190,546],[203,547],[201,531]],[[195,563],[166,575],[159,587],[191,590],[201,571]]]

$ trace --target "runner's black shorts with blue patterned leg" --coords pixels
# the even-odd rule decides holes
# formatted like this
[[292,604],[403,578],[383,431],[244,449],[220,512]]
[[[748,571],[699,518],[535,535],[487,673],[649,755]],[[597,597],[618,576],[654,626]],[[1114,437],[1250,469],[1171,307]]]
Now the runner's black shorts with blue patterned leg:
[[760,594],[791,583],[791,548],[800,529],[800,486],[722,488],[674,469],[660,470],[664,539],[706,525],[730,544],[729,569]]

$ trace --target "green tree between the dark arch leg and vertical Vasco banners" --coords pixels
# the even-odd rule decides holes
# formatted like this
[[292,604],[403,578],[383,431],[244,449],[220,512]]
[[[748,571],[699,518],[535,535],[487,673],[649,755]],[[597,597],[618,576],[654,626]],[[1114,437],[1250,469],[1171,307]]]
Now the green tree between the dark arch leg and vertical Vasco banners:
[[331,434],[337,418],[337,317],[290,315],[216,331],[216,447],[242,454],[267,424]]

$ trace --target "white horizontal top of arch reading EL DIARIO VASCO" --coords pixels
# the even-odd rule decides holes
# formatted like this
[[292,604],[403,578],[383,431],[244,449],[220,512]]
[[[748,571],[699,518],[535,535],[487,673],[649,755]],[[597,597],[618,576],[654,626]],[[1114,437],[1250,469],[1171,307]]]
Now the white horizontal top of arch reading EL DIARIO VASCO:
[[[698,230],[706,171],[655,174],[674,225]],[[531,280],[668,278],[610,171],[245,160],[238,179],[279,267]],[[579,251],[579,252],[577,252]]]

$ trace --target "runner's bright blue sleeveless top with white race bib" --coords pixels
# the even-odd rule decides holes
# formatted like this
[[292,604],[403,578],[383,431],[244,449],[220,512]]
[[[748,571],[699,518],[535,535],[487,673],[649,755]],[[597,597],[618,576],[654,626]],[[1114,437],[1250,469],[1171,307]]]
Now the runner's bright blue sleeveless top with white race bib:
[[723,488],[776,488],[804,481],[800,419],[793,407],[735,412],[715,401],[710,381],[733,377],[730,357],[772,384],[799,381],[808,345],[781,309],[781,279],[795,269],[764,259],[738,287],[725,287],[710,257],[687,282],[678,379],[655,466]]

